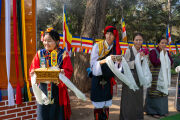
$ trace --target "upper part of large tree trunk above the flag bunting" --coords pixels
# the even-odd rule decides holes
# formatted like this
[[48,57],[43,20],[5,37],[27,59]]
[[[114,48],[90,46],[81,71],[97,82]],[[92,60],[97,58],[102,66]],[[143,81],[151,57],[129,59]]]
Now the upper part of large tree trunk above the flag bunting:
[[107,0],[88,0],[81,36],[101,38],[105,26]]

